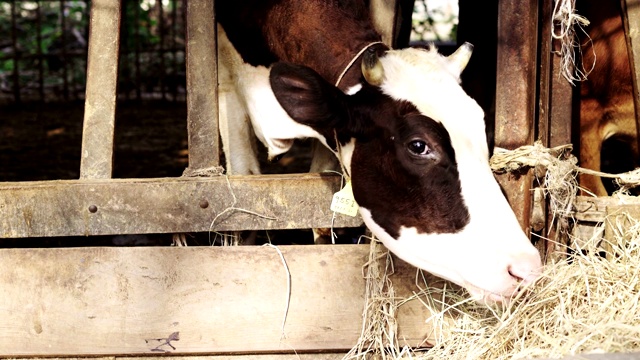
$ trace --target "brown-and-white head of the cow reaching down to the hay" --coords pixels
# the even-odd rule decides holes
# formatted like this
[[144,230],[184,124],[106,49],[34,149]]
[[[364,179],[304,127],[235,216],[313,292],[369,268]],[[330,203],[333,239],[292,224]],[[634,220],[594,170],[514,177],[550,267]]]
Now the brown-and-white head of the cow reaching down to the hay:
[[270,81],[288,115],[341,157],[366,225],[389,250],[502,301],[542,265],[489,167],[483,111],[459,85],[470,55],[470,45],[449,57],[367,52],[368,83],[353,95],[293,64],[275,64]]

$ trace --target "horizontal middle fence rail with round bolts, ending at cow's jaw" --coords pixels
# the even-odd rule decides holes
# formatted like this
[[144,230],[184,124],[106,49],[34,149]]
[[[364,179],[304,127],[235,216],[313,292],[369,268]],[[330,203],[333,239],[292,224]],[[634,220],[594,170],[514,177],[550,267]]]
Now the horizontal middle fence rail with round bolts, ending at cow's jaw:
[[0,237],[331,227],[339,188],[320,174],[0,183]]

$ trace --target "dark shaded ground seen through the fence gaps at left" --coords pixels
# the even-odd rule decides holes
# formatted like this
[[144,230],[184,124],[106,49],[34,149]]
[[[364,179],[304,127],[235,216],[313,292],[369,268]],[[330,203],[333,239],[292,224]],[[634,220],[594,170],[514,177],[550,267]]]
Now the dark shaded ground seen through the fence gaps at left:
[[[0,182],[78,179],[82,102],[0,107]],[[178,177],[188,166],[184,102],[119,104],[114,140],[114,178]],[[261,157],[264,173],[308,171],[310,144],[301,141],[278,163]],[[223,162],[224,159],[221,159]],[[355,230],[341,238],[351,242]],[[310,230],[260,232],[258,243],[310,243]],[[170,245],[171,234],[138,237],[0,239],[0,247]],[[209,234],[188,234],[190,245],[209,245]]]

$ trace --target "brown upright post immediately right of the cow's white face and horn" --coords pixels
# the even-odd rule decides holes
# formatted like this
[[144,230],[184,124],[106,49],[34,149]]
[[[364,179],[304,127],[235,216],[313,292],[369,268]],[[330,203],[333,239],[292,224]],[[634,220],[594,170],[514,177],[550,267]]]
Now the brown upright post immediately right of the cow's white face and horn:
[[[498,147],[514,149],[533,143],[538,2],[501,1],[498,6],[495,141]],[[531,171],[519,177],[498,177],[526,232],[530,229],[532,178]]]

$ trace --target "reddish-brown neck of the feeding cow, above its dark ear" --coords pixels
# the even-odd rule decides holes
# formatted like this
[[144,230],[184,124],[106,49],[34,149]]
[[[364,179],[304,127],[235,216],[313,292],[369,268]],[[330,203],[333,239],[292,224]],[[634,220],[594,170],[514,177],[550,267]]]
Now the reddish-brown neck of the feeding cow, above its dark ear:
[[[364,2],[233,0],[216,2],[216,11],[246,62],[306,65],[333,84],[362,48],[381,39]],[[358,60],[340,88],[358,84],[360,74]]]

